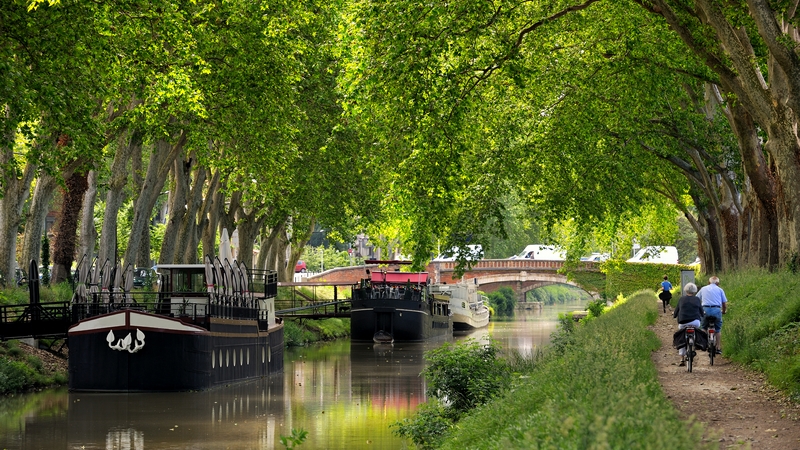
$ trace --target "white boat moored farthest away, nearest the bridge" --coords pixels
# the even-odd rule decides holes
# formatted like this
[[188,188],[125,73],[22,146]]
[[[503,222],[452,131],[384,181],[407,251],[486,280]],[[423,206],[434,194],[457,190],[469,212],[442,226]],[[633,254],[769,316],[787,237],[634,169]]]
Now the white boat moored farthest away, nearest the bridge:
[[478,286],[467,282],[436,284],[431,293],[437,299],[450,302],[453,313],[453,330],[469,331],[489,324],[488,299],[478,292]]

